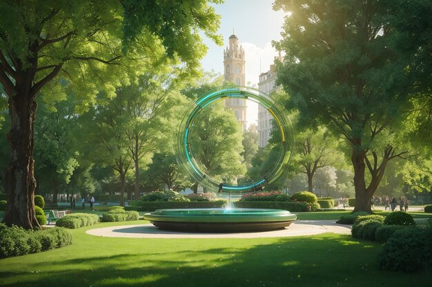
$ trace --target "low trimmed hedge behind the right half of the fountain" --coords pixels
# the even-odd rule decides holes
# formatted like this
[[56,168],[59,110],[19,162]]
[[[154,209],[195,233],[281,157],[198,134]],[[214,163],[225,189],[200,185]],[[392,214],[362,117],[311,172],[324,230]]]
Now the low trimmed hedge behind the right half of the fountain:
[[[317,205],[317,203],[315,202]],[[308,202],[268,202],[268,201],[238,201],[234,202],[237,208],[257,208],[257,209],[284,209],[291,212],[315,211],[317,206]]]

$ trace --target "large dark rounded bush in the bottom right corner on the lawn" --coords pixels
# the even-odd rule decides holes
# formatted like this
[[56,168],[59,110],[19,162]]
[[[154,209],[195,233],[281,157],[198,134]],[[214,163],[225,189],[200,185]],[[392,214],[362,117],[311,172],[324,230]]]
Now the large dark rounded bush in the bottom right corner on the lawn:
[[395,231],[378,256],[384,270],[430,272],[432,268],[432,228],[405,227]]

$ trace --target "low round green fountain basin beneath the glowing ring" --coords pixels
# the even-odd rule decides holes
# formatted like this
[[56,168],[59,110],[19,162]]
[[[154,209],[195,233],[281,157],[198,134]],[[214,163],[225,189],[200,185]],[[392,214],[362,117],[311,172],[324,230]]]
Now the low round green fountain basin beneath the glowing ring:
[[144,219],[161,229],[237,233],[285,228],[297,215],[281,209],[157,209]]

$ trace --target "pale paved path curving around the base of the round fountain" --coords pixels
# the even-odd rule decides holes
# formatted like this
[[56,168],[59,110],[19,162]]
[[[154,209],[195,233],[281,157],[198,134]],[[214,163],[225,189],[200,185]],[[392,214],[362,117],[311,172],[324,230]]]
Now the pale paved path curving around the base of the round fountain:
[[326,232],[351,234],[351,226],[336,224],[334,220],[297,220],[287,228],[277,231],[251,233],[186,233],[164,231],[153,226],[153,224],[111,226],[86,231],[86,233],[95,236],[130,238],[257,238],[315,235]]

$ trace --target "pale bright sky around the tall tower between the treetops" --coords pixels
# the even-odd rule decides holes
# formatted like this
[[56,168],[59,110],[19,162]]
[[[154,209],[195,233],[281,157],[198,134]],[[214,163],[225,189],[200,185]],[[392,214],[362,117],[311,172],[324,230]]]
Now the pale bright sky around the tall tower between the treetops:
[[[273,10],[273,0],[225,0],[213,7],[221,15],[219,34],[224,37],[224,45],[218,46],[204,36],[208,52],[201,61],[203,69],[224,74],[224,48],[234,29],[246,56],[246,84],[257,88],[259,74],[267,72],[277,56],[271,42],[282,39],[284,12]],[[250,101],[247,105],[246,119],[256,123],[257,105]]]

